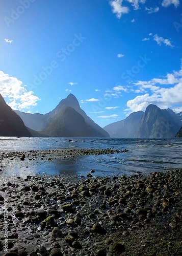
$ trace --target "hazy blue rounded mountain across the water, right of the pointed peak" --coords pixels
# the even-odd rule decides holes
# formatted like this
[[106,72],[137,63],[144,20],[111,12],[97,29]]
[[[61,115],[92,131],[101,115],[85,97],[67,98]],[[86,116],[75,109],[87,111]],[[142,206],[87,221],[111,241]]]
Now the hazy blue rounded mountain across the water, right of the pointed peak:
[[182,124],[182,113],[161,110],[150,104],[145,113],[134,112],[126,119],[111,123],[105,129],[111,137],[121,138],[174,138]]

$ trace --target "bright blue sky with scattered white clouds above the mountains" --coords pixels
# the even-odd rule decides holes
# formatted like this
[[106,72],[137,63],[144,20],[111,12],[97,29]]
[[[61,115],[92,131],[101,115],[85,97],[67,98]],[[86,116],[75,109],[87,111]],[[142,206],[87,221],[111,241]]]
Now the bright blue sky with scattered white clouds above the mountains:
[[0,93],[47,113],[72,93],[100,126],[182,110],[179,0],[1,0]]

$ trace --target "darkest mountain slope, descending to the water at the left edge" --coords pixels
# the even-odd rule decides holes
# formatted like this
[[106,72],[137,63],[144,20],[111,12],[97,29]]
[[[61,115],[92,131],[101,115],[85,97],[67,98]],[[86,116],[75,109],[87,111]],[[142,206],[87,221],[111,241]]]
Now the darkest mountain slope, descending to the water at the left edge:
[[0,94],[0,136],[31,136],[21,118],[8,106]]

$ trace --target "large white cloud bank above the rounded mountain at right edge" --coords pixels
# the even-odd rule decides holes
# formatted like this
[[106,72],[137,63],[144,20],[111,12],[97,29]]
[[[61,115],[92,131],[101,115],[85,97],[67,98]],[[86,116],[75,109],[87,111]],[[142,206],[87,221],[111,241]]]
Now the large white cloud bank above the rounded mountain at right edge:
[[145,111],[149,104],[158,105],[161,109],[182,105],[182,67],[180,71],[169,73],[162,78],[153,78],[149,81],[134,83],[138,87],[137,93],[144,93],[127,101],[127,113]]

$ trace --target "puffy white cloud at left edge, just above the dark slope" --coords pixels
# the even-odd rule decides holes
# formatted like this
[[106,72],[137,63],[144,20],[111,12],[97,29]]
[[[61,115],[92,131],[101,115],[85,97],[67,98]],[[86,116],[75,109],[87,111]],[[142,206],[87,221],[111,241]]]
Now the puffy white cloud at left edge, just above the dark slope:
[[[22,81],[0,71],[0,93],[15,110],[28,110],[37,105],[39,97],[28,91]],[[10,102],[9,102],[10,101]]]

